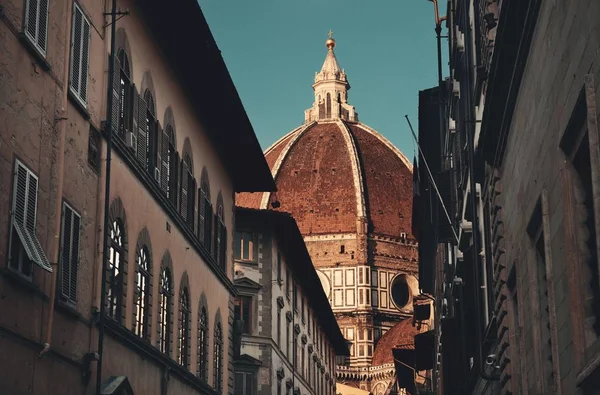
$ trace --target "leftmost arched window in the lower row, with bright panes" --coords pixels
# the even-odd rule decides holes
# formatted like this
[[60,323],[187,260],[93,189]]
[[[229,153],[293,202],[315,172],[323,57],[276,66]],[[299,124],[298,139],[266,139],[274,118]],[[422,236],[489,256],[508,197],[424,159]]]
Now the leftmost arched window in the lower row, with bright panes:
[[123,306],[123,224],[114,220],[110,227],[110,249],[108,256],[107,314],[121,322]]

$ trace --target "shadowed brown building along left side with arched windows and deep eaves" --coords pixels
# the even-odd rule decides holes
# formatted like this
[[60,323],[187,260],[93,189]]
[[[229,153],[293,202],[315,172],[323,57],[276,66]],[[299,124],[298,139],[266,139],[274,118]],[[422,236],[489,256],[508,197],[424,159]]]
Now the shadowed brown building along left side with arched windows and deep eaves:
[[119,1],[115,56],[111,4],[0,4],[0,392],[101,356],[103,393],[231,394],[234,194],[273,180],[197,2]]

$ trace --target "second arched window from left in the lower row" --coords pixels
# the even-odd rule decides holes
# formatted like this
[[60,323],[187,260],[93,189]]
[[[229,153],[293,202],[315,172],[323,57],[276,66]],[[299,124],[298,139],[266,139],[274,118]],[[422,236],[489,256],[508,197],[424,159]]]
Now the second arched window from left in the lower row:
[[142,246],[136,251],[135,294],[133,296],[133,332],[150,339],[150,254]]

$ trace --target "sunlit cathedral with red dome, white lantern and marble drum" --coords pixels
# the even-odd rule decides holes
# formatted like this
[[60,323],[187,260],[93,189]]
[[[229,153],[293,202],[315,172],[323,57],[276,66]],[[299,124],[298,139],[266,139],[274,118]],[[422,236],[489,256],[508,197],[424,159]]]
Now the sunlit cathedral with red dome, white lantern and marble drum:
[[236,203],[289,212],[296,219],[351,343],[349,358],[338,366],[338,381],[379,395],[393,382],[394,366],[375,365],[377,343],[412,318],[413,297],[419,294],[412,164],[358,121],[335,45],[331,37],[326,42],[304,124],[265,151],[277,192],[241,194]]

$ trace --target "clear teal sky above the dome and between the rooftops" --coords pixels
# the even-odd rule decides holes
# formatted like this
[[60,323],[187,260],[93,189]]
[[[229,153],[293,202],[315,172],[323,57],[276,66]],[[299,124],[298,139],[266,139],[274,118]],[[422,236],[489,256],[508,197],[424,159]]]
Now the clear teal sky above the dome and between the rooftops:
[[[444,3],[443,1],[441,1]],[[361,122],[413,158],[419,90],[437,84],[427,0],[199,0],[263,149],[304,121],[329,30]],[[447,52],[446,40],[442,51]]]

